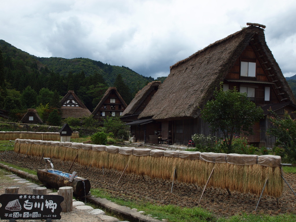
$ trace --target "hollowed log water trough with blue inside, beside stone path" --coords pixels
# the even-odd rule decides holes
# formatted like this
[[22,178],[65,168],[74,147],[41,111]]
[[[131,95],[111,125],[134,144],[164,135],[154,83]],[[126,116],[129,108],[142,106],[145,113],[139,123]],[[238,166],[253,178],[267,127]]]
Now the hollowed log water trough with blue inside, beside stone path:
[[[58,171],[58,170],[55,170]],[[75,177],[72,182],[69,181],[69,177],[61,176],[68,175],[68,173],[61,172],[60,173],[52,173],[51,170],[37,170],[38,180],[44,183],[46,186],[50,186],[55,189],[59,189],[63,186],[72,186],[73,194],[78,197],[86,196],[90,189],[91,184],[88,179],[84,179],[81,177]]]

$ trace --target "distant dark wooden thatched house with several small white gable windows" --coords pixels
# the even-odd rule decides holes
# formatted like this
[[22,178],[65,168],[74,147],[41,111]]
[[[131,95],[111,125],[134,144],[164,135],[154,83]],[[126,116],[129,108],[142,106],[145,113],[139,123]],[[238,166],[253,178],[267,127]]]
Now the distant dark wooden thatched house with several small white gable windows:
[[116,87],[109,87],[91,114],[94,115],[96,120],[99,120],[99,123],[102,123],[103,118],[107,116],[122,115],[126,107],[126,102],[124,102]]

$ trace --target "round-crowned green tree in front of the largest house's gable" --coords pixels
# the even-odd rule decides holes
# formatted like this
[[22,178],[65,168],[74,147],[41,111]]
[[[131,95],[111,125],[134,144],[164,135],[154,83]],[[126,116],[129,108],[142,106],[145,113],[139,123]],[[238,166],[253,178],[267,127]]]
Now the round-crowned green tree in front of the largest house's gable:
[[263,110],[236,88],[223,91],[222,84],[220,90],[214,91],[214,99],[207,102],[201,114],[214,131],[223,132],[229,153],[234,133],[252,134],[254,123],[263,118]]

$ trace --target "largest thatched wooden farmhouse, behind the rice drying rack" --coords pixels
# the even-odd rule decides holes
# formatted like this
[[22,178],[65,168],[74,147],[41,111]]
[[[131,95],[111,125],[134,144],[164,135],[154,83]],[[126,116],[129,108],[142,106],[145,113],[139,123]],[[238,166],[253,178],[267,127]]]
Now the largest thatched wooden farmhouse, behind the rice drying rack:
[[[215,87],[222,81],[224,90],[237,87],[262,107],[265,117],[254,124],[254,135],[248,136],[248,140],[258,146],[273,147],[274,138],[266,135],[270,126],[268,108],[278,115],[284,110],[291,113],[296,110],[296,101],[266,44],[265,26],[247,25],[250,26],[170,67],[170,74],[138,119],[127,123],[137,142],[186,145],[195,133],[213,135],[208,124],[200,118],[199,107],[212,99]],[[137,99],[141,103],[144,98]],[[221,137],[220,133],[215,136]]]

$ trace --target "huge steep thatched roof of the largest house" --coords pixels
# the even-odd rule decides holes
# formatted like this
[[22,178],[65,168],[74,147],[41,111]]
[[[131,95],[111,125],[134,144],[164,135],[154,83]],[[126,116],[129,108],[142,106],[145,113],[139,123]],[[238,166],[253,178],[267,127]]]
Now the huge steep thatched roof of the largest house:
[[171,66],[170,74],[139,118],[197,118],[200,115],[199,107],[202,108],[211,99],[215,87],[224,80],[250,41],[261,46],[261,53],[287,93],[286,101],[295,103],[293,93],[266,44],[263,29],[252,25]]

